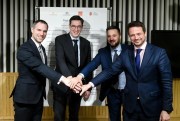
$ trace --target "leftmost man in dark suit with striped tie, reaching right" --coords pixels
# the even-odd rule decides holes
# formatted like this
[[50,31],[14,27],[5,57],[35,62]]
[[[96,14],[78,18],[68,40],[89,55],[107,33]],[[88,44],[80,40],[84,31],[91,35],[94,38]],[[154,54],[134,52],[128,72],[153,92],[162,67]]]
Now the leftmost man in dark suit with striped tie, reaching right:
[[67,87],[60,82],[68,85],[69,80],[46,65],[45,48],[41,42],[45,39],[47,31],[48,24],[44,20],[35,21],[31,27],[31,39],[18,49],[19,76],[11,94],[15,121],[41,121],[43,97],[46,98],[46,77],[52,80],[53,85],[61,85],[61,93],[66,92]]

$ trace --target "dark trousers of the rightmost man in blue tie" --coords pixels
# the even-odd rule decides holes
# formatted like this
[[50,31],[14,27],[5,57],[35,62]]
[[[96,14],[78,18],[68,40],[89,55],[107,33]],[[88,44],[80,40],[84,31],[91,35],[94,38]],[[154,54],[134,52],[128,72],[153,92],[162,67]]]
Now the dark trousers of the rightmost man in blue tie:
[[142,109],[140,101],[137,100],[136,108],[133,113],[128,113],[126,110],[123,110],[123,121],[159,121],[159,116],[158,117],[146,116],[146,114]]

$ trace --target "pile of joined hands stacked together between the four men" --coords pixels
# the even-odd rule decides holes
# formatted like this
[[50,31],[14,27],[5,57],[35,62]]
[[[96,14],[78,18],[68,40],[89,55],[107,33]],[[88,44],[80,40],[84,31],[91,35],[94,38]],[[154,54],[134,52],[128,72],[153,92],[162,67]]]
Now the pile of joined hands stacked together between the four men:
[[83,96],[84,99],[88,99],[90,95],[90,89],[92,85],[90,83],[83,85],[82,83],[83,76],[78,74],[76,77],[64,77],[62,79],[62,82],[68,86],[70,89],[72,89],[75,93],[79,93],[80,96]]

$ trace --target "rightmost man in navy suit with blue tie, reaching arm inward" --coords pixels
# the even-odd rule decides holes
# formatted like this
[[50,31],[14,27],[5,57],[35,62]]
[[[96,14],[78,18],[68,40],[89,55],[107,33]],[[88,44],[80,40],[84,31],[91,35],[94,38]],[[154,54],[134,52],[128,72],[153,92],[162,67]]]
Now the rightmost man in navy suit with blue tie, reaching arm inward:
[[[127,81],[123,121],[169,121],[169,113],[173,108],[172,73],[168,56],[164,49],[146,41],[146,29],[142,22],[129,23],[128,35],[132,46],[121,53],[110,69],[102,71],[84,85],[81,95],[124,71]],[[138,49],[141,50],[139,53],[136,51]]]

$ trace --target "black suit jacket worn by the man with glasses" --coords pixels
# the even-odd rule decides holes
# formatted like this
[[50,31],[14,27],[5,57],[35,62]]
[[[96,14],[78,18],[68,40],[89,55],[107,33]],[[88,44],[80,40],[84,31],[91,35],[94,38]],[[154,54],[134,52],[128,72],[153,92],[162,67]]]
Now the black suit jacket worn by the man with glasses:
[[[63,74],[65,77],[77,76],[82,68],[91,61],[91,46],[90,42],[83,37],[80,37],[80,66],[77,66],[75,59],[75,51],[72,39],[68,34],[63,34],[55,38],[55,55],[56,55],[56,71]],[[88,76],[83,83],[87,83],[92,78]],[[55,92],[57,88],[53,87]],[[68,87],[67,89],[68,90]]]

